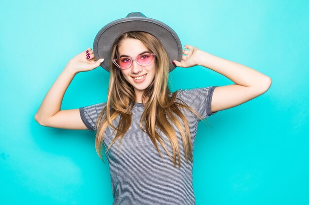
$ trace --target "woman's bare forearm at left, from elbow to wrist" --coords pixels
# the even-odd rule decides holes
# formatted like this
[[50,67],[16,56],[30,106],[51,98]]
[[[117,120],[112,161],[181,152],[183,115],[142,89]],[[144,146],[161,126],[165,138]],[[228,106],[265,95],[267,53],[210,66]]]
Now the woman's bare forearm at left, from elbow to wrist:
[[66,67],[45,95],[35,119],[44,121],[57,114],[61,109],[63,96],[77,73]]

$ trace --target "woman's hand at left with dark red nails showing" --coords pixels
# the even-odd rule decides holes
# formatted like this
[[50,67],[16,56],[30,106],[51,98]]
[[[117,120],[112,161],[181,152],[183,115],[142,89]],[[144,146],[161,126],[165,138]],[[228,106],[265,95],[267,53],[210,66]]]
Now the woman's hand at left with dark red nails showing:
[[95,59],[92,49],[87,48],[87,50],[71,59],[66,65],[65,69],[69,69],[74,73],[89,71],[99,67],[103,62],[101,62],[101,60],[102,59]]

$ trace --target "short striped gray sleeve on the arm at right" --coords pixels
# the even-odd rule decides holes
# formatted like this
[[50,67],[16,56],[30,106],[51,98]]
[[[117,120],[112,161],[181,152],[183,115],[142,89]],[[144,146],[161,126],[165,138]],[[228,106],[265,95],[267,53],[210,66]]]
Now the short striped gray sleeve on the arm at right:
[[202,118],[209,117],[217,112],[211,112],[211,100],[214,89],[218,86],[210,86],[206,88],[180,89],[177,97],[184,101]]

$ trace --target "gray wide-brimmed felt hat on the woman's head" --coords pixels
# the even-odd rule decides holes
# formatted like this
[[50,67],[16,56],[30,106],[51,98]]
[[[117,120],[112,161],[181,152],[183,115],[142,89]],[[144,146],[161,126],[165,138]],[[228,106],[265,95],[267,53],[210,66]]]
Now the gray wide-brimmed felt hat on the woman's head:
[[146,17],[141,12],[129,13],[125,18],[113,21],[104,26],[96,35],[93,53],[96,59],[104,59],[101,67],[110,72],[112,45],[115,39],[128,31],[145,31],[154,35],[163,45],[170,59],[169,71],[176,68],[172,60],[181,61],[182,45],[176,32],[166,24]]

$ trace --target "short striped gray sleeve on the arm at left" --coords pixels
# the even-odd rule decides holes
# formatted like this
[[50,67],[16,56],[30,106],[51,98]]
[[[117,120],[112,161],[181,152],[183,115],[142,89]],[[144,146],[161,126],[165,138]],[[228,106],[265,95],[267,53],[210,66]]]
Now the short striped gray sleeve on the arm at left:
[[95,124],[105,105],[104,102],[79,108],[80,118],[90,132],[94,131]]

